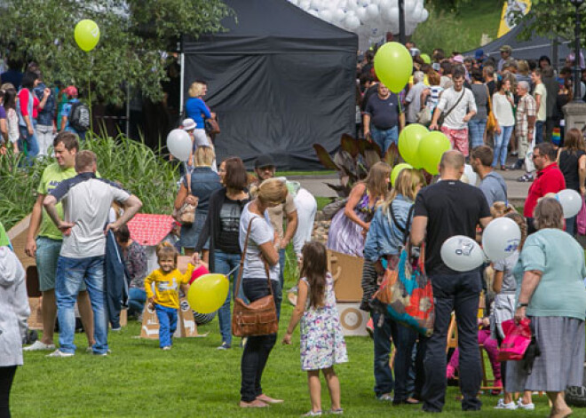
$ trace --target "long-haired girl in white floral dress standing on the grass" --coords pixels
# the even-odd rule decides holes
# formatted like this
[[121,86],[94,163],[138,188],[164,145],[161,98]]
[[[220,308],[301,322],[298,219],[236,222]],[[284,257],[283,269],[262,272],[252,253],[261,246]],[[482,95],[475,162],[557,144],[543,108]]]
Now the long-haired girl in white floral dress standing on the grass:
[[297,306],[289,321],[284,344],[301,319],[301,369],[307,371],[312,410],[304,416],[321,415],[320,370],[326,378],[331,399],[330,414],[342,414],[340,382],[334,365],[348,361],[334,295],[334,279],[328,272],[328,254],[320,242],[308,242],[302,250],[303,265]]

